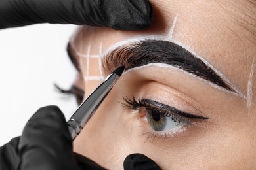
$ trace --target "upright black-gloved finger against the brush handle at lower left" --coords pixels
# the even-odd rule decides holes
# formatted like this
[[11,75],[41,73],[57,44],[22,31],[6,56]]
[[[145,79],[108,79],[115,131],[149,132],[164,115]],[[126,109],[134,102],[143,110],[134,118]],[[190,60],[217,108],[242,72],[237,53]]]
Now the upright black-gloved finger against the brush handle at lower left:
[[26,124],[20,144],[20,169],[77,169],[72,139],[58,107],[43,107]]

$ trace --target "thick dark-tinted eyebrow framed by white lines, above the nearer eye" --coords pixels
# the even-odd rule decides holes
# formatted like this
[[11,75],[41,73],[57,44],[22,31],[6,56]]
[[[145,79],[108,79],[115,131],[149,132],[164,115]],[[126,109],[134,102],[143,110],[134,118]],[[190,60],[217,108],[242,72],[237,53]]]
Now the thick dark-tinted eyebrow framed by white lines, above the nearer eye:
[[146,39],[119,46],[104,56],[102,67],[105,73],[106,71],[111,73],[121,65],[125,65],[125,71],[127,71],[150,63],[171,65],[221,86],[230,92],[237,93],[202,59],[197,58],[182,46],[169,41]]

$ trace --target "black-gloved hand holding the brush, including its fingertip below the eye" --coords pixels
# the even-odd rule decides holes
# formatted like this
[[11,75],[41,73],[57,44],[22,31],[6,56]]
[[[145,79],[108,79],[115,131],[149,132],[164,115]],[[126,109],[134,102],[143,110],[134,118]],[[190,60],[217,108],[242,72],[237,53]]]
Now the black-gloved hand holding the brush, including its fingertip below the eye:
[[[152,169],[154,161],[142,154],[127,156],[125,169]],[[0,169],[104,169],[72,151],[64,115],[55,106],[43,107],[28,120],[21,137],[0,148]],[[160,168],[159,168],[160,169]]]

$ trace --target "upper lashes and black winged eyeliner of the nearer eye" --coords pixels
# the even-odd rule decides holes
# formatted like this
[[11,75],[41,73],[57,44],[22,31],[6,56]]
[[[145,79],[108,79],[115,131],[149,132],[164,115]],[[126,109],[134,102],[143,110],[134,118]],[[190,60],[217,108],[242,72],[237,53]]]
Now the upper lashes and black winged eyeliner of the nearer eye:
[[186,118],[187,120],[188,119],[198,119],[198,120],[208,119],[207,117],[182,112],[181,110],[178,110],[175,107],[170,107],[169,105],[164,105],[162,103],[153,101],[151,99],[140,100],[140,97],[138,97],[138,99],[136,100],[135,97],[133,96],[133,99],[130,99],[129,97],[123,97],[123,100],[125,101],[125,103],[121,103],[121,104],[125,109],[137,110],[140,107],[146,107],[146,109],[157,110],[158,113],[161,114],[161,116],[167,116],[167,117],[171,116],[172,120],[174,121],[177,120],[178,122],[181,122],[180,119],[184,120],[184,118]]

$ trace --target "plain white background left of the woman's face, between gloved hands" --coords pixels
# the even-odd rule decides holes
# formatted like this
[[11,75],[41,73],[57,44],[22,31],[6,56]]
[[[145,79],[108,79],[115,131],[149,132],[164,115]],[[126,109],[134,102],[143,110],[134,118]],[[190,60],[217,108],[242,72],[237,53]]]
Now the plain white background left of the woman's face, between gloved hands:
[[75,78],[66,54],[75,28],[37,24],[0,30],[0,146],[21,135],[39,107],[58,105],[66,119],[75,111],[75,99],[53,86],[68,89]]

